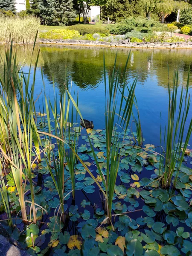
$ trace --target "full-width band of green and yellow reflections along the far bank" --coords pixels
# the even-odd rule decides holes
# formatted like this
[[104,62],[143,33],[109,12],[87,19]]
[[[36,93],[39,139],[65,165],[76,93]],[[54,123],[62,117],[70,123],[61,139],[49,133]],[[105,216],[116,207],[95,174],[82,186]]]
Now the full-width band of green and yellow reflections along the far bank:
[[[6,46],[8,49],[9,46]],[[113,71],[113,64],[117,52],[116,67],[122,65],[122,70],[130,49],[126,48],[101,48],[80,46],[47,46],[41,45],[38,66],[49,81],[54,78],[55,83],[62,87],[65,82],[65,69],[72,81],[81,89],[96,88],[103,79],[103,56],[105,52],[106,70]],[[30,64],[33,46],[14,46],[17,50],[17,60]],[[39,45],[35,47],[32,65],[38,54]],[[5,46],[0,47],[0,54],[4,56]],[[127,78],[133,79],[138,75],[138,82],[146,83],[149,78],[152,86],[153,81],[167,88],[168,65],[170,81],[174,69],[179,70],[179,84],[186,84],[189,65],[191,64],[192,51],[189,49],[131,49],[127,69]],[[4,58],[4,57],[3,57]],[[191,65],[192,69],[192,65]]]

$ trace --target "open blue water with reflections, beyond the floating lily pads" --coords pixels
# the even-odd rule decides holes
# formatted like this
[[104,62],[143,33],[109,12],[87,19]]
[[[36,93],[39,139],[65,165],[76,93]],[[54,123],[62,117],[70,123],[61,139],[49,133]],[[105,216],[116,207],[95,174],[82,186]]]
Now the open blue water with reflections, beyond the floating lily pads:
[[[82,115],[85,119],[93,120],[94,128],[104,128],[103,56],[105,53],[107,72],[112,72],[116,53],[117,66],[122,65],[123,68],[130,49],[41,45],[35,48],[32,65],[35,64],[39,48],[35,93],[38,95],[43,89],[41,69],[46,93],[53,98],[52,80],[54,79],[55,82],[55,94],[59,93],[59,88],[65,81],[67,68],[68,76],[72,81],[72,90],[79,93],[79,108]],[[20,64],[25,63],[24,70],[27,71],[32,46],[15,46],[15,50],[17,50],[17,60]],[[4,52],[4,46],[0,47],[0,52]],[[192,68],[192,51],[189,49],[131,49],[127,81],[132,83],[138,76],[135,94],[146,143],[160,144],[160,124],[164,127],[167,123],[168,78],[172,85],[174,70],[178,69],[180,84],[178,92],[180,92],[181,86],[186,85],[190,66]],[[189,84],[192,92],[192,77]],[[189,119],[191,116],[192,107],[189,110]]]

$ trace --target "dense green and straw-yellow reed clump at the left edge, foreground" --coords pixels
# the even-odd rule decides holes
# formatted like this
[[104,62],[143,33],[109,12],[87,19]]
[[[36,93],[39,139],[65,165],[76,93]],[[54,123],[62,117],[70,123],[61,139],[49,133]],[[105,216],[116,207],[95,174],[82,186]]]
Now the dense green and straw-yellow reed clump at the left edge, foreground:
[[[4,136],[6,141],[6,145],[3,145],[4,150],[2,148],[2,152],[4,157],[11,163],[15,186],[19,195],[22,218],[27,221],[25,204],[28,202],[31,204],[33,221],[36,223],[35,205],[37,204],[35,204],[31,162],[32,156],[34,155],[33,139],[35,138],[36,145],[38,140],[38,148],[36,148],[35,152],[38,152],[39,155],[39,143],[41,144],[41,140],[37,133],[37,126],[34,118],[35,72],[32,85],[29,88],[31,65],[29,67],[29,73],[26,76],[26,74],[17,66],[17,55],[13,54],[12,45],[5,56],[4,76],[0,77],[2,89],[0,93],[0,109],[3,110],[0,115],[0,125],[2,126],[1,130],[3,131],[1,137]],[[35,64],[35,70],[36,67],[37,65]],[[5,127],[7,127],[7,130]],[[38,159],[40,160],[41,158],[39,155]],[[23,174],[25,180],[23,180]],[[29,182],[30,185],[31,202],[25,201],[24,199],[27,182]]]

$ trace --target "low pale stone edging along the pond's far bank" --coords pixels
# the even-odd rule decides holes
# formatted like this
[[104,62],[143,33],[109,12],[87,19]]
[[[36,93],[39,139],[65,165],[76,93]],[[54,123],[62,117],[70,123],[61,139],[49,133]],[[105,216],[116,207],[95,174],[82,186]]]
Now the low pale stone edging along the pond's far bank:
[[84,46],[105,46],[105,47],[134,47],[134,48],[164,48],[164,49],[192,49],[192,42],[175,43],[131,43],[129,40],[119,40],[116,42],[88,41],[88,40],[63,40],[63,39],[39,39],[41,44],[64,44],[64,45],[84,45]]

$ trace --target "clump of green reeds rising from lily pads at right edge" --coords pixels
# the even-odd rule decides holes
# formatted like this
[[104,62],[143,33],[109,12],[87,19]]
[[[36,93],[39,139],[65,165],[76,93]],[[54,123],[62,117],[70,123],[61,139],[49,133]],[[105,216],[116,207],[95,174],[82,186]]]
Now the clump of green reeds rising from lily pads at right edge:
[[[169,108],[168,126],[164,132],[163,157],[160,157],[160,170],[163,172],[162,186],[169,188],[177,184],[177,177],[183,162],[185,151],[192,134],[192,119],[189,127],[186,127],[186,120],[189,115],[190,94],[189,94],[189,73],[185,89],[182,87],[178,93],[178,71],[174,72],[173,85],[168,83]],[[177,103],[178,102],[178,103]],[[183,142],[184,141],[184,142]],[[164,160],[165,159],[165,160]]]

